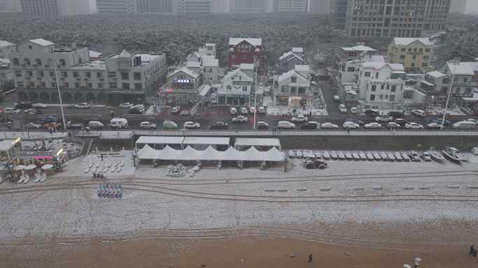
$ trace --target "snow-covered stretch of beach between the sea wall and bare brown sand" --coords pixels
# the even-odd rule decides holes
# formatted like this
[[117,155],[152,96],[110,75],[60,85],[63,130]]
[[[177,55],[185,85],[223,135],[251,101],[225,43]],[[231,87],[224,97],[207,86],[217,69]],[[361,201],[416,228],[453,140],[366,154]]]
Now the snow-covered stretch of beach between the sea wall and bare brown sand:
[[[328,161],[329,168],[326,170],[305,170],[301,167],[300,160],[292,160],[291,170],[285,173],[282,167],[259,170],[249,166],[244,170],[238,168],[217,170],[212,165],[206,165],[194,174],[194,177],[171,178],[166,177],[166,166],[133,167],[131,155],[125,151],[103,159],[103,163],[124,163],[122,172],[115,175],[112,173],[111,177],[107,172],[107,179],[131,178],[121,181],[113,180],[115,183],[124,184],[151,179],[152,182],[156,182],[151,185],[156,187],[173,189],[173,191],[207,193],[209,197],[189,198],[125,188],[122,200],[100,200],[96,197],[94,186],[85,189],[10,195],[0,192],[0,203],[3,204],[0,207],[2,215],[0,239],[41,237],[49,234],[64,236],[121,234],[140,230],[241,228],[254,225],[309,225],[320,228],[321,223],[349,221],[384,222],[392,225],[443,219],[478,221],[476,202],[250,202],[214,200],[209,195],[297,197],[440,193],[478,196],[477,189],[467,188],[467,186],[478,184],[476,174],[470,172],[470,170],[478,170],[478,157],[471,155],[469,157],[470,163],[461,166],[448,162],[439,164]],[[104,165],[101,164],[101,158],[98,155],[78,158],[68,165],[65,172],[49,179],[43,185],[90,179],[91,174],[84,173],[90,163]],[[434,173],[419,174],[419,172]],[[459,188],[448,188],[449,185],[456,185]],[[26,186],[2,184],[0,191],[4,188]],[[383,190],[378,192],[372,190],[375,186],[382,186]],[[403,189],[408,186],[414,189]],[[419,186],[429,186],[430,189],[423,192],[424,190],[418,189]],[[356,191],[354,190],[356,187],[364,189]],[[307,188],[307,191],[298,192],[296,191],[298,188]],[[321,188],[331,188],[331,190],[321,191]],[[288,191],[265,191],[270,189],[287,189]],[[158,191],[168,192],[165,189]]]

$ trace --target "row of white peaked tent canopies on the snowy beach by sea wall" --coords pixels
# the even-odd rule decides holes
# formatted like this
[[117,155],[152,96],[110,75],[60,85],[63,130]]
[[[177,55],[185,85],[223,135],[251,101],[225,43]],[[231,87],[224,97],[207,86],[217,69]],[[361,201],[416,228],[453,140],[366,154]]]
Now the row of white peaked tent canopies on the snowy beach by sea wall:
[[152,149],[149,145],[138,151],[138,158],[144,160],[172,160],[172,161],[270,161],[280,162],[285,160],[284,153],[273,147],[269,151],[258,151],[250,147],[247,151],[238,151],[229,147],[226,151],[217,151],[209,146],[203,151],[190,146],[184,150],[176,150],[169,146],[162,150]]

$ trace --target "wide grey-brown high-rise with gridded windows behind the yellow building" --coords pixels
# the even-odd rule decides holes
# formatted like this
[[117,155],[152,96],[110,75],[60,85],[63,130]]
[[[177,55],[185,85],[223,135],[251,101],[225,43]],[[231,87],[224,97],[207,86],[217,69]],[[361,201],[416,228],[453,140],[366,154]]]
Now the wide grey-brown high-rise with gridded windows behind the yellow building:
[[345,31],[356,37],[420,37],[446,28],[450,0],[349,0]]

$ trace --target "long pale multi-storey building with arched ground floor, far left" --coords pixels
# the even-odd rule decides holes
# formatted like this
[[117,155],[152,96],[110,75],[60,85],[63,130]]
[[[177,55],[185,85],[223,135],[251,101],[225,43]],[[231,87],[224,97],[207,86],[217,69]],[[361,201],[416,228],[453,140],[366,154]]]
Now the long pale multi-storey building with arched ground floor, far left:
[[10,62],[18,101],[57,103],[58,81],[64,103],[143,102],[166,75],[164,54],[123,50],[90,61],[87,47],[62,47],[43,39],[17,45]]

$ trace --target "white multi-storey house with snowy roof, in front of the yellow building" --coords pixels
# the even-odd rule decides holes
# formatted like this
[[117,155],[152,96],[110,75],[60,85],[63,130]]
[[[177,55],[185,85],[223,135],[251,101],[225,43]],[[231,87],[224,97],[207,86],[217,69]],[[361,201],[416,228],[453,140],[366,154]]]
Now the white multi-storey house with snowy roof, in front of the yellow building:
[[365,62],[359,72],[359,98],[365,105],[403,107],[405,72],[403,64]]

